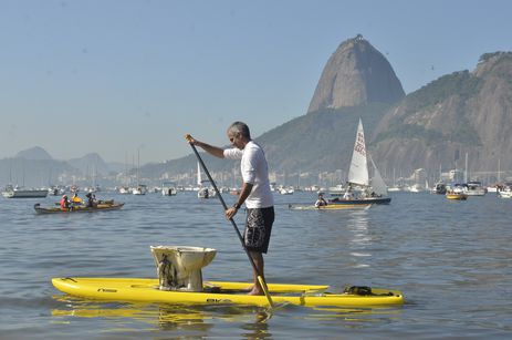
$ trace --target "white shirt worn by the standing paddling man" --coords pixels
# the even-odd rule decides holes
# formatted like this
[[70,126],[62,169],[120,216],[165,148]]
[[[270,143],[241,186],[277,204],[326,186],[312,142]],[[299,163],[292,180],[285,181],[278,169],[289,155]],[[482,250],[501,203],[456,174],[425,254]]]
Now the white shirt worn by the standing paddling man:
[[223,154],[229,159],[241,159],[240,169],[243,183],[253,185],[251,194],[245,199],[245,206],[250,209],[273,206],[274,197],[270,190],[269,166],[261,146],[250,141],[243,150],[227,148]]

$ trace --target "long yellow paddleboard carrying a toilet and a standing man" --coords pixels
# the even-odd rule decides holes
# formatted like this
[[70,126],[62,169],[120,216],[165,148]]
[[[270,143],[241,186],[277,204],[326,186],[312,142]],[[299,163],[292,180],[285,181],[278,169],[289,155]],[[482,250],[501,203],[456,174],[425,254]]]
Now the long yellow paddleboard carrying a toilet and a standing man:
[[[252,284],[205,281],[203,291],[159,290],[158,279],[146,278],[53,278],[53,286],[62,292],[94,300],[136,301],[199,305],[268,306],[265,296],[249,296]],[[398,290],[362,287],[362,291],[328,292],[330,286],[269,284],[274,303],[306,307],[386,307],[404,303]],[[354,287],[353,287],[354,288]],[[357,287],[356,287],[357,288]]]

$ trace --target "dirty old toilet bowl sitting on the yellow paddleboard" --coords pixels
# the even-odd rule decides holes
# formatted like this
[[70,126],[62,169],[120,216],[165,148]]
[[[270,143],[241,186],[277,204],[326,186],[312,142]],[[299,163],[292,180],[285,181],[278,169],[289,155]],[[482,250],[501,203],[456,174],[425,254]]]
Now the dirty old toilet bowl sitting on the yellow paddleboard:
[[203,247],[151,246],[160,290],[202,291],[202,267],[217,250]]

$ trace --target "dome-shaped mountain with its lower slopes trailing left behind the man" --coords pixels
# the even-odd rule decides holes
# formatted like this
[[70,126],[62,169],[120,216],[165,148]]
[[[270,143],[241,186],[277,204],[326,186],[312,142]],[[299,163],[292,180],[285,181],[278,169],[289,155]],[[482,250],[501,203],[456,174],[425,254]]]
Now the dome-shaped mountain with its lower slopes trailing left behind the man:
[[[284,177],[310,173],[315,183],[325,172],[346,175],[359,117],[369,136],[391,104],[404,95],[389,62],[358,35],[343,42],[327,61],[307,114],[253,137],[265,150],[270,171]],[[190,155],[144,166],[142,172],[150,177],[187,171],[192,174],[196,162]],[[205,162],[212,173],[224,175],[238,167],[236,162],[208,155]]]

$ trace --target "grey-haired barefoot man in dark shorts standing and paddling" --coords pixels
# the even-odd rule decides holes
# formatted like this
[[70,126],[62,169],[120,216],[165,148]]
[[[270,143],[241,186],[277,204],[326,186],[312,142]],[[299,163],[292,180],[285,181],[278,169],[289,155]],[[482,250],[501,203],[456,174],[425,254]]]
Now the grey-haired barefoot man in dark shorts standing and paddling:
[[245,123],[232,123],[228,127],[227,134],[233,147],[226,150],[199,142],[189,134],[186,135],[186,140],[219,158],[241,159],[242,189],[233,206],[226,210],[226,218],[233,218],[242,204],[245,204],[243,241],[258,269],[258,271],[253,270],[254,285],[249,295],[263,295],[264,291],[258,281],[258,276],[264,280],[263,254],[267,254],[269,249],[275,217],[273,196],[270,190],[269,167],[263,148],[251,140],[251,133]]

